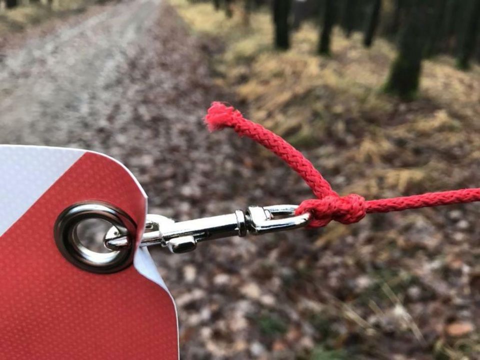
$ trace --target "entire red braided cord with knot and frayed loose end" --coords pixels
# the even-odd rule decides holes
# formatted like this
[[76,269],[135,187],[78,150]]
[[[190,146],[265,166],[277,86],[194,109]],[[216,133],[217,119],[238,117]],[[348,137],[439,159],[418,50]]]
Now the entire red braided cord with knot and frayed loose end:
[[205,122],[211,131],[232,127],[240,136],[247,136],[258,142],[285,161],[305,180],[317,198],[302,201],[296,213],[312,213],[313,219],[309,227],[325,226],[331,220],[350,224],[371,212],[401,211],[480,200],[480,188],[427,192],[368,201],[357,194],[339,196],[300,151],[270,130],[245,119],[240,111],[233,107],[213,102],[205,116]]

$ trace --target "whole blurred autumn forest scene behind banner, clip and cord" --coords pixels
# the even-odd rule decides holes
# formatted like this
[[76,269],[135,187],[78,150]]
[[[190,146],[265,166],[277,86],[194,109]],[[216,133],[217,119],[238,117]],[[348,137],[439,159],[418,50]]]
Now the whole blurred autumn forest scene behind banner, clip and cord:
[[[0,142],[101,151],[184,220],[312,194],[228,101],[367,199],[480,182],[480,0],[0,0]],[[480,359],[478,204],[153,256],[182,359]]]

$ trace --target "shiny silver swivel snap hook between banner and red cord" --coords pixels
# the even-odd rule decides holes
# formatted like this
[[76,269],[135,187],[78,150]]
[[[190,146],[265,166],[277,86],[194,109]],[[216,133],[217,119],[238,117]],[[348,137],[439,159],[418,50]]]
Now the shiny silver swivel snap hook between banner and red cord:
[[[182,253],[194,250],[198,242],[206,240],[245,236],[247,232],[261,235],[307,225],[311,214],[295,216],[296,208],[296,205],[249,206],[245,212],[236,210],[180,222],[148,214],[140,246],[161,245],[172,253]],[[110,250],[120,250],[130,246],[130,241],[112,227],[105,235],[104,244]]]

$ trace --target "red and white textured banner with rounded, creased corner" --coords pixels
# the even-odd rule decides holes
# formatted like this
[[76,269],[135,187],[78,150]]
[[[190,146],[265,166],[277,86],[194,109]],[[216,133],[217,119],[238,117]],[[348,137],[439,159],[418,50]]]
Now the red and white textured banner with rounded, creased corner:
[[175,305],[146,248],[112,274],[84,271],[60,254],[57,216],[82,201],[123,210],[141,237],[146,196],[116,160],[0,145],[0,358],[178,359]]

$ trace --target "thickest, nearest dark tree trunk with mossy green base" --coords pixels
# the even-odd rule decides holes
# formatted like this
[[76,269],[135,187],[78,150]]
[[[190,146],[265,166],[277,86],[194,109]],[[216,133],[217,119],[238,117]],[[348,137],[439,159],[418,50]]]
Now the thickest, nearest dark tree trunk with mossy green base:
[[385,91],[411,99],[418,90],[421,59],[425,46],[423,24],[428,13],[427,1],[408,0],[407,16],[400,33],[398,55],[393,61]]

